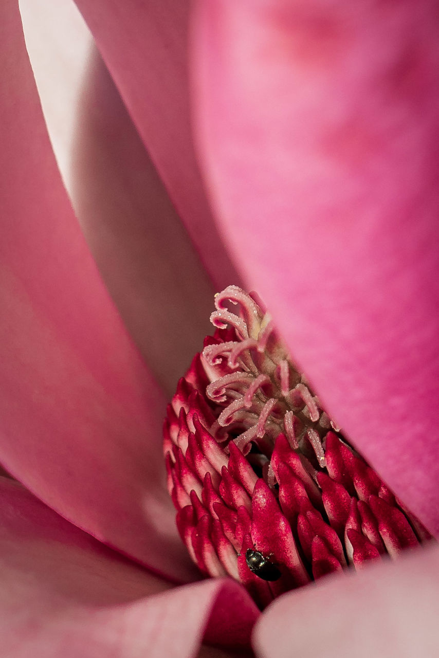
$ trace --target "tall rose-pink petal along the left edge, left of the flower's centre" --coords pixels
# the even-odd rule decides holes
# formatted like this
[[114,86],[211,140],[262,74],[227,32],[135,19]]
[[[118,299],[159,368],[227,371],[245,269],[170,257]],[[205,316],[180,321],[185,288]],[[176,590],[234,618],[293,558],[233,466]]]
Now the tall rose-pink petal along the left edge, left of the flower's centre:
[[14,5],[0,9],[0,461],[102,542],[184,578],[194,572],[165,486],[165,400],[72,215]]

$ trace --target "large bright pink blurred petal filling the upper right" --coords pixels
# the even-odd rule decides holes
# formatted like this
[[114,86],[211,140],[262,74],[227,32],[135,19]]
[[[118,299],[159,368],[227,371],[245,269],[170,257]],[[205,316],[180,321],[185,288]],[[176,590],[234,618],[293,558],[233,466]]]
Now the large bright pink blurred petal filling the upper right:
[[437,533],[436,7],[198,7],[220,227],[328,412]]

